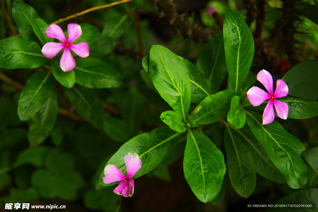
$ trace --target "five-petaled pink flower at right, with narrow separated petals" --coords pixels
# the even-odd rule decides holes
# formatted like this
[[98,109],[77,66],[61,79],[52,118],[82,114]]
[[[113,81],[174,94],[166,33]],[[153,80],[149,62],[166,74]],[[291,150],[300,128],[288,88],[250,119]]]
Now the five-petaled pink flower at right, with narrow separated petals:
[[248,97],[248,100],[254,107],[259,106],[265,100],[269,99],[263,113],[263,124],[269,124],[272,121],[274,121],[275,114],[274,114],[273,103],[274,103],[278,117],[280,117],[281,119],[287,119],[287,116],[288,116],[287,103],[276,100],[276,98],[287,96],[288,94],[287,84],[281,79],[277,80],[276,91],[273,94],[272,75],[264,69],[257,74],[257,80],[265,86],[269,94],[263,91],[262,89],[260,89],[259,87],[253,86],[252,88],[250,88],[250,90],[247,91],[246,95]]

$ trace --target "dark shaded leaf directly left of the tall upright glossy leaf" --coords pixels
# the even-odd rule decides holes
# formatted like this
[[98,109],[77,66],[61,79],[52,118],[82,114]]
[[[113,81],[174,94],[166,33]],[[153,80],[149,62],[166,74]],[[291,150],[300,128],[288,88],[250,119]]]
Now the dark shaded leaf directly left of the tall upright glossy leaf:
[[216,34],[201,49],[197,68],[211,81],[211,85],[217,91],[227,74],[223,32]]

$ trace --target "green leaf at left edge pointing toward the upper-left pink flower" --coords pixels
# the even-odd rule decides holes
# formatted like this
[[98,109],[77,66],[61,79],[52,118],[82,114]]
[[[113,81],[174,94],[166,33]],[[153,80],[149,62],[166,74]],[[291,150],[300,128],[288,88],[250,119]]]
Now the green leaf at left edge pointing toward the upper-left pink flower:
[[0,40],[0,68],[35,69],[43,65],[46,60],[41,48],[35,42],[19,37]]

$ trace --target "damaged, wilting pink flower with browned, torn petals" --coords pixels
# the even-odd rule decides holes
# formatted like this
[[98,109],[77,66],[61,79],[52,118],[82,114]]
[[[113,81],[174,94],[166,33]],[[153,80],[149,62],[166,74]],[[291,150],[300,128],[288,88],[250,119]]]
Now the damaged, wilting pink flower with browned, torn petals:
[[131,197],[134,194],[134,180],[131,179],[136,172],[141,168],[141,160],[137,153],[128,152],[124,157],[127,177],[117,168],[115,165],[107,165],[105,167],[105,177],[103,181],[105,184],[121,181],[117,188],[113,191],[115,194],[122,195],[124,197]]

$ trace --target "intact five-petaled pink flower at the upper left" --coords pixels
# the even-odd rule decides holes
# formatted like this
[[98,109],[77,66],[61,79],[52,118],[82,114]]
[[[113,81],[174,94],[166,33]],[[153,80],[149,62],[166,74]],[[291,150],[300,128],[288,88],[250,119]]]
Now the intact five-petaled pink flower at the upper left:
[[68,24],[67,33],[68,40],[66,40],[65,35],[61,27],[56,24],[52,24],[47,27],[46,36],[49,38],[56,38],[63,43],[48,42],[42,48],[42,54],[47,58],[55,57],[63,48],[64,52],[60,60],[60,66],[63,71],[70,71],[76,66],[75,60],[71,54],[70,49],[80,57],[89,56],[89,48],[86,42],[81,42],[78,44],[72,44],[76,39],[82,35],[82,29],[78,24]]

